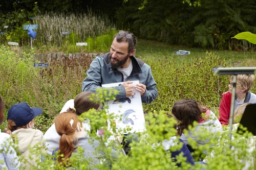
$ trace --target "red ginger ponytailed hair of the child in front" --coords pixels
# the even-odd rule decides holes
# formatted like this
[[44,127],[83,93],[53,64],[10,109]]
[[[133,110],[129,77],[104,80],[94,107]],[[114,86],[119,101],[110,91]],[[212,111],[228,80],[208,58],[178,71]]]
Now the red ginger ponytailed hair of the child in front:
[[[71,156],[75,149],[77,138],[74,136],[78,123],[81,123],[77,119],[78,115],[72,112],[63,112],[53,120],[57,133],[60,135],[59,140],[59,154],[63,154],[62,157],[58,157],[58,162],[63,163],[63,166],[68,166],[68,158]],[[73,125],[71,127],[70,120],[73,119]],[[75,144],[73,139],[76,140]]]

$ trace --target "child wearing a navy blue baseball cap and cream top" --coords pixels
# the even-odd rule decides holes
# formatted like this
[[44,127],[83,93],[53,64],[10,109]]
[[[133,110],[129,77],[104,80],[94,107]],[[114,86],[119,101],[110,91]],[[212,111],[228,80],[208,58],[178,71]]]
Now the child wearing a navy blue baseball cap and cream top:
[[[41,142],[45,144],[44,135],[40,130],[32,129],[34,127],[34,117],[42,113],[38,107],[31,108],[26,102],[14,104],[7,112],[7,128],[13,135],[17,136],[18,150],[24,157],[20,165],[29,169],[31,164],[36,166],[36,160],[40,159],[38,155],[31,155],[29,147],[33,149],[34,145]],[[32,159],[30,158],[32,157]]]

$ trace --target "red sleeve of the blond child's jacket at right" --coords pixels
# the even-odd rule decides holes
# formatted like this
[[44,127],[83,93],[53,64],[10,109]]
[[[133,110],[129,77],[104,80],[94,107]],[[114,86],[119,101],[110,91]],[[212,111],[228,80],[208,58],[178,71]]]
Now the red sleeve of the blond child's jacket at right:
[[229,91],[222,94],[221,104],[219,108],[219,120],[222,125],[228,125],[231,106],[231,93]]

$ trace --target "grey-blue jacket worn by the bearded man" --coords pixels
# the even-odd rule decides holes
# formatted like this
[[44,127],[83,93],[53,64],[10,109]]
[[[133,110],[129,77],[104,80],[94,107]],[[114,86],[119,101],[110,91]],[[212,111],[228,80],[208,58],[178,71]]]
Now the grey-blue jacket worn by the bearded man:
[[[103,56],[97,56],[90,65],[90,69],[87,71],[87,78],[82,82],[82,91],[92,91],[102,84],[123,82],[123,74],[116,68],[112,69],[109,63],[110,53],[106,53]],[[143,61],[131,56],[133,70],[130,76],[126,78],[126,81],[139,80],[146,86],[145,93],[141,96],[142,103],[151,103],[156,100],[158,95],[156,85],[151,68]],[[102,88],[102,87],[101,87]],[[116,96],[116,99],[125,98],[126,93],[123,85],[116,87],[120,93]]]

